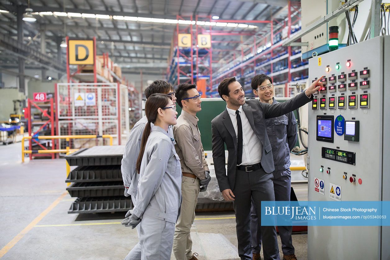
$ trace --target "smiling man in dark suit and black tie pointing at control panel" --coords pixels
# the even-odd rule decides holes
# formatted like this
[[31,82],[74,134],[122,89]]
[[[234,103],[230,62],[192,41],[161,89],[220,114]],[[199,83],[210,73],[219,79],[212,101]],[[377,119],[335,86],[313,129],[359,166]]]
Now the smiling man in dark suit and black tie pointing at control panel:
[[[322,77],[321,77],[322,78]],[[274,201],[271,174],[275,167],[265,119],[287,114],[313,99],[322,86],[316,80],[298,96],[284,103],[260,103],[249,100],[235,78],[225,78],[218,92],[226,101],[226,109],[211,121],[215,175],[225,200],[233,200],[236,212],[238,255],[251,260],[249,214],[253,198],[258,216],[261,201]],[[229,152],[225,170],[225,144]],[[264,259],[280,259],[275,226],[262,226]]]

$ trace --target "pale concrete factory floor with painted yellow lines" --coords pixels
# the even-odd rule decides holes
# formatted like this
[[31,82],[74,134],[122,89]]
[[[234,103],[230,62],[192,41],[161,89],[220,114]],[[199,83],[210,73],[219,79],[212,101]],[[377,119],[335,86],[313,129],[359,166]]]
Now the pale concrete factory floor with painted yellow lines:
[[[65,175],[64,159],[21,163],[21,143],[0,146],[0,258],[123,259],[138,242],[120,224],[124,213],[67,214],[74,198]],[[307,200],[307,184],[293,187]],[[239,259],[234,212],[197,214],[191,237],[200,260]],[[307,234],[294,234],[293,244],[307,259]]]

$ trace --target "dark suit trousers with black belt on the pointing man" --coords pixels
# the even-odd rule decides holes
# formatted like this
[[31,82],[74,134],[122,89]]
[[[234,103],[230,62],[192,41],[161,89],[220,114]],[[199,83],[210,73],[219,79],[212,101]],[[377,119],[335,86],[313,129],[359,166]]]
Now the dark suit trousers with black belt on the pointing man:
[[[273,175],[261,168],[253,172],[237,170],[233,189],[233,207],[236,212],[238,255],[241,260],[252,260],[250,209],[252,198],[256,213],[261,216],[261,202],[274,201]],[[263,237],[264,259],[280,260],[275,226],[260,226]]]

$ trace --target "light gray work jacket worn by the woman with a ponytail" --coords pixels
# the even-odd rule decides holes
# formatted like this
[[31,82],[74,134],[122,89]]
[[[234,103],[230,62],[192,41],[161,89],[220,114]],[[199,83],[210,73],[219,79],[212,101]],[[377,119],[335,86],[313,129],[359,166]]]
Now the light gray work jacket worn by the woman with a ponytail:
[[145,146],[133,213],[176,223],[181,204],[181,165],[173,138],[152,126]]

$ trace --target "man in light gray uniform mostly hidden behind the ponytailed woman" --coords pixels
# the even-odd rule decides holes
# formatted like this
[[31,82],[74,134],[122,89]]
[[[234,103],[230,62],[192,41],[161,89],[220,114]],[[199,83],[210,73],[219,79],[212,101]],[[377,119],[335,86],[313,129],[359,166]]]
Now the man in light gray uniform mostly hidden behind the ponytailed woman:
[[[145,88],[145,96],[148,98],[152,94],[168,94],[172,96],[172,101],[176,105],[176,97],[174,88],[170,83],[163,80],[156,80]],[[123,152],[121,172],[124,184],[124,196],[131,196],[133,205],[136,204],[138,180],[140,175],[137,174],[137,159],[140,153],[142,134],[144,133],[145,125],[147,123],[146,116],[142,117],[131,129],[129,139],[126,142],[126,146]],[[169,126],[168,135],[173,139],[173,127]],[[175,141],[174,141],[175,144]],[[137,226],[137,232],[139,226]],[[134,249],[126,256],[126,260],[140,260],[141,259],[141,246],[140,243],[134,247]]]

